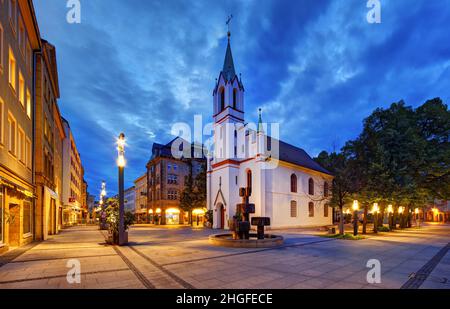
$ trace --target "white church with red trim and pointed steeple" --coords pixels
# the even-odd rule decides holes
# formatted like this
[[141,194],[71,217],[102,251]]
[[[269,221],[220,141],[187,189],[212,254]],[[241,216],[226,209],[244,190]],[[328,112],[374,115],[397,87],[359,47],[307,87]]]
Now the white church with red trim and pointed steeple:
[[236,204],[242,202],[242,187],[252,189],[250,203],[256,213],[251,217],[269,217],[272,229],[331,225],[333,176],[303,149],[268,137],[261,115],[258,125],[246,124],[244,93],[228,34],[224,66],[213,92],[214,150],[207,174],[213,227],[228,229]]

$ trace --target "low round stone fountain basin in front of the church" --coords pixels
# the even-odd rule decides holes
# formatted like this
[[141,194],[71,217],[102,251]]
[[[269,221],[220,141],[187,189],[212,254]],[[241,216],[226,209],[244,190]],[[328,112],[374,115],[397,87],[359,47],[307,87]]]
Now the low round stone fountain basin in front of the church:
[[250,234],[250,239],[234,240],[233,234],[218,234],[209,236],[209,243],[214,246],[230,248],[273,248],[282,246],[284,238],[277,235],[265,235],[265,239],[257,239],[256,234]]

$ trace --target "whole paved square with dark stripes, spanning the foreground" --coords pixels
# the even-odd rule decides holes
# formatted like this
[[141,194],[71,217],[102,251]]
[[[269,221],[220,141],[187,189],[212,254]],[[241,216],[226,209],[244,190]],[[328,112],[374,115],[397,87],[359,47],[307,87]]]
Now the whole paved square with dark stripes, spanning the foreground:
[[[8,288],[450,288],[450,226],[426,226],[333,240],[311,231],[277,231],[277,249],[213,247],[214,231],[138,226],[130,245],[105,245],[97,227],[74,227],[0,256],[0,289]],[[69,284],[67,266],[81,265]],[[368,260],[381,262],[381,283],[368,284]]]

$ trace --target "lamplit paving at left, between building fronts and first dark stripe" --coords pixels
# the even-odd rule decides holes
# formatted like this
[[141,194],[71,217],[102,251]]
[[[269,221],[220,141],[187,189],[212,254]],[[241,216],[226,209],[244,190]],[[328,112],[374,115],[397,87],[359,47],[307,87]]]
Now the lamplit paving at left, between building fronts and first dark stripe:
[[[143,288],[114,248],[104,243],[98,227],[64,230],[1,266],[0,289]],[[80,261],[81,284],[67,282],[71,259]]]

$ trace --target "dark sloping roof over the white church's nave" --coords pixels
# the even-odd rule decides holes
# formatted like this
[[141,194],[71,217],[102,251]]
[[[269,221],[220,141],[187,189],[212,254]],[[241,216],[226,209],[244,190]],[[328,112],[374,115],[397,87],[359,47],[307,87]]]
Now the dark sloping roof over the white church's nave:
[[[268,137],[270,141],[270,144],[272,144],[272,138]],[[328,175],[333,175],[331,172],[320,166],[319,163],[314,161],[305,150],[295,147],[291,144],[285,143],[283,141],[279,141],[280,146],[280,153],[279,153],[279,160],[288,162],[291,164],[299,165],[302,167],[306,167],[308,169],[321,172]]]

